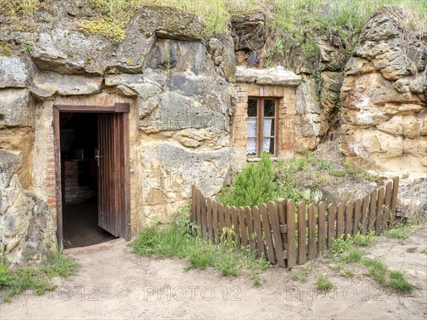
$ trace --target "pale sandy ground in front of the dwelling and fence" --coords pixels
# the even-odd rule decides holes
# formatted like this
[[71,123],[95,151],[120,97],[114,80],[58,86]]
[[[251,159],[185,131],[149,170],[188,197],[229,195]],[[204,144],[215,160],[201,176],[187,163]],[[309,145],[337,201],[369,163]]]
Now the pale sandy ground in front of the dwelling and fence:
[[[221,277],[214,270],[183,270],[184,260],[136,257],[122,243],[107,250],[75,253],[78,274],[58,279],[41,297],[21,294],[2,303],[0,319],[425,319],[427,316],[426,228],[404,242],[379,237],[369,249],[402,270],[416,290],[390,294],[365,274],[342,276],[327,260],[310,262],[305,282],[293,281],[301,267],[271,267],[262,286],[249,277]],[[416,252],[407,252],[416,246]],[[320,272],[334,282],[327,294],[315,289]]]

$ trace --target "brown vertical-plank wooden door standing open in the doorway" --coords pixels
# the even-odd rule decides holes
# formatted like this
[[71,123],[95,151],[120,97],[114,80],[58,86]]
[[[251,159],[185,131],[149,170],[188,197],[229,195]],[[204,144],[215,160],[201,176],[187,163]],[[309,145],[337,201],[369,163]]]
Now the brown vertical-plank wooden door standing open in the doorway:
[[124,113],[97,114],[98,225],[127,238],[127,152]]

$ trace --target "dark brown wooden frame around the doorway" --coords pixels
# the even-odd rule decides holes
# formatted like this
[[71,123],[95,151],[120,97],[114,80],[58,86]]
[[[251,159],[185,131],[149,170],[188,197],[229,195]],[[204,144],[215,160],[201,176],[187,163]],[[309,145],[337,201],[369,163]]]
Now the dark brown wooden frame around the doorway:
[[63,241],[62,189],[60,173],[60,113],[123,113],[123,151],[125,162],[125,239],[130,240],[130,161],[129,161],[129,111],[130,104],[116,102],[113,106],[53,105],[53,144],[56,176],[56,238]]

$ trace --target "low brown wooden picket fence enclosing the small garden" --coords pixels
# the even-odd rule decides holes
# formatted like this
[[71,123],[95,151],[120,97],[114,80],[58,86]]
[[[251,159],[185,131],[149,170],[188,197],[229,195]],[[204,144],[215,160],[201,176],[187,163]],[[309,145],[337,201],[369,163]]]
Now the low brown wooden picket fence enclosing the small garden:
[[[357,201],[317,206],[279,199],[258,206],[223,206],[192,189],[191,220],[212,242],[233,240],[281,267],[302,265],[332,246],[332,239],[375,230],[381,233],[396,214],[399,177]],[[228,230],[228,231],[227,231]],[[230,232],[232,230],[232,232]],[[233,239],[230,239],[232,237]]]

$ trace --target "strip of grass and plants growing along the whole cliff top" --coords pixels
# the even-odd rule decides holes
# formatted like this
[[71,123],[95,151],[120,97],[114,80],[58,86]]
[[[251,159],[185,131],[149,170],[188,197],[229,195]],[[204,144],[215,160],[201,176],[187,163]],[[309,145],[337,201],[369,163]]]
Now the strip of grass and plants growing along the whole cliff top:
[[[53,16],[54,11],[60,12],[54,10],[55,2],[0,0],[0,15],[5,17],[6,30],[34,31],[41,16],[39,12],[47,11]],[[384,6],[406,9],[409,18],[399,21],[402,28],[416,27],[424,33],[427,29],[427,1],[423,0],[88,0],[89,8],[85,11],[92,10],[94,14],[76,16],[78,29],[120,43],[125,38],[127,23],[141,6],[171,7],[194,14],[199,17],[207,37],[226,33],[232,17],[271,12],[272,41],[265,66],[280,63],[291,67],[295,48],[317,59],[319,37],[350,53],[369,17]],[[56,21],[56,18],[48,20]],[[38,22],[46,23],[46,19]]]

